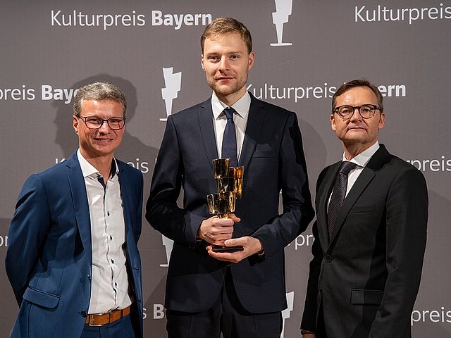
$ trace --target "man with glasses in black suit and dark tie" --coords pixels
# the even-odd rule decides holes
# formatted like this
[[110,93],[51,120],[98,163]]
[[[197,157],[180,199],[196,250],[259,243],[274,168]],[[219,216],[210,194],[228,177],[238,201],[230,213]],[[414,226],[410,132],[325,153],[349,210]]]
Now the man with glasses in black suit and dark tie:
[[409,338],[426,247],[426,181],[378,143],[383,96],[369,81],[342,84],[330,123],[343,156],[316,183],[302,334]]

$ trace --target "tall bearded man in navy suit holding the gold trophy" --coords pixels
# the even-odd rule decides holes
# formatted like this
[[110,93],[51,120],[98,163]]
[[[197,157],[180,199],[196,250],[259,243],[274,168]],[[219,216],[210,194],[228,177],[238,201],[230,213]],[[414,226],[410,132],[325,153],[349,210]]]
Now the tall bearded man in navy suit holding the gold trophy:
[[[213,94],[168,117],[147,201],[149,223],[174,240],[168,337],[280,337],[284,248],[313,218],[297,117],[247,92],[254,52],[245,25],[218,18],[206,27],[201,47]],[[230,131],[235,139],[226,144]],[[231,160],[245,167],[242,199],[236,215],[212,217],[206,204],[206,195],[217,191],[212,160],[230,147]],[[215,252],[212,244],[243,250]]]

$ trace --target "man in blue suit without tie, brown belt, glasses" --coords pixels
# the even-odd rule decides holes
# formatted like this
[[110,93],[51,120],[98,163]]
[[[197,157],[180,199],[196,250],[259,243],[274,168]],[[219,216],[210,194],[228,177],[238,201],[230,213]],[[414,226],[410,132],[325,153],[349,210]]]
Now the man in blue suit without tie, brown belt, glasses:
[[78,151],[25,182],[5,262],[11,337],[142,337],[142,173],[113,157],[126,108],[113,84],[81,87]]

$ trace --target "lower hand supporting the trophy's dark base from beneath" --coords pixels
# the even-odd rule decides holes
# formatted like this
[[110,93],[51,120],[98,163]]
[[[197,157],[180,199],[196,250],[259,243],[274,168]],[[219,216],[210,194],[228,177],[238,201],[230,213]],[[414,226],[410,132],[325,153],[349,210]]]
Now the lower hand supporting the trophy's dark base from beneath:
[[226,261],[232,263],[238,263],[243,259],[263,251],[263,245],[260,240],[254,237],[245,236],[240,238],[232,238],[224,242],[225,246],[241,245],[244,249],[242,251],[235,252],[214,252],[213,248],[209,245],[206,247],[209,255],[219,261]]

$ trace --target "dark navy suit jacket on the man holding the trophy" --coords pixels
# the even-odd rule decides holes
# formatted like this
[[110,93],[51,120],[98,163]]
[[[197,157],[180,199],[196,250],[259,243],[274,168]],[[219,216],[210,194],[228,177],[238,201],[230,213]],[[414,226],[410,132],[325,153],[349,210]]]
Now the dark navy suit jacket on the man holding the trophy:
[[[232,264],[230,272],[242,306],[251,313],[268,313],[286,308],[283,249],[306,229],[313,209],[296,114],[251,98],[238,163],[245,167],[243,196],[235,206],[241,222],[233,237],[260,239],[265,255]],[[206,243],[196,241],[202,220],[211,217],[206,195],[217,192],[214,158],[211,98],[168,117],[146,218],[174,240],[166,281],[170,310],[206,311],[221,292],[228,263],[211,258]],[[177,206],[181,187],[183,208]]]

